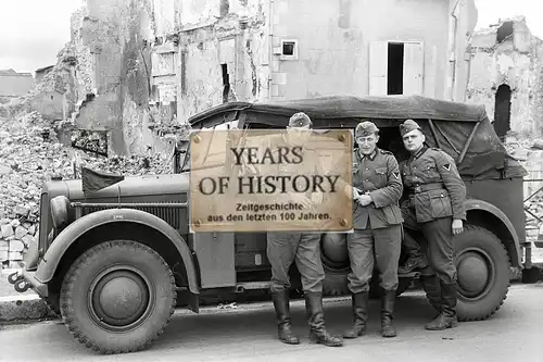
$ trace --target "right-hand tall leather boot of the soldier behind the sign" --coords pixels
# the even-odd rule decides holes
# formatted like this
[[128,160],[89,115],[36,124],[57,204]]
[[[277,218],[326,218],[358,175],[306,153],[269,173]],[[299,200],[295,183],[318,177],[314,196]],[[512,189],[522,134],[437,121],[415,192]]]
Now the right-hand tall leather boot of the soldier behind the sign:
[[323,311],[323,294],[305,292],[305,311],[310,324],[310,342],[321,344],[328,347],[343,346],[341,337],[331,336],[325,327],[325,313]]

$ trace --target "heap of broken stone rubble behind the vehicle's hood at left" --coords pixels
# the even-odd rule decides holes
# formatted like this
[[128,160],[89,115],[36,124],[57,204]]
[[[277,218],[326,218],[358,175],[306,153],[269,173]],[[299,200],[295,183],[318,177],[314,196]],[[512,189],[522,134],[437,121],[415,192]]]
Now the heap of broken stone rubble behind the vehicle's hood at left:
[[125,176],[162,174],[173,172],[173,160],[171,154],[108,159],[63,146],[37,112],[0,118],[0,269],[18,267],[38,238],[42,184],[53,176],[79,178],[81,166]]

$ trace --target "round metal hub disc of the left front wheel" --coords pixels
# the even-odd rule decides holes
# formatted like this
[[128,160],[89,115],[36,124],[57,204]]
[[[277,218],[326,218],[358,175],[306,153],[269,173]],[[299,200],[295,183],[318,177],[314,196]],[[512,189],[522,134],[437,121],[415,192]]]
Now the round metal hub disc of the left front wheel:
[[91,307],[101,322],[112,326],[127,326],[146,312],[150,292],[138,274],[113,271],[98,280],[91,290]]

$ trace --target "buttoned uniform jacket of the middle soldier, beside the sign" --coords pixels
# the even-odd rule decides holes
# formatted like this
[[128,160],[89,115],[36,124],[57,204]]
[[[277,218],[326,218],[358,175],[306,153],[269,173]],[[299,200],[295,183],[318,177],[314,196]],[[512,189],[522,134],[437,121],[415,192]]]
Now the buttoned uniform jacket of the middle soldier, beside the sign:
[[403,194],[402,178],[392,152],[376,149],[370,155],[353,152],[353,187],[368,194],[372,202],[366,207],[353,201],[354,228],[383,228],[403,222],[399,207]]

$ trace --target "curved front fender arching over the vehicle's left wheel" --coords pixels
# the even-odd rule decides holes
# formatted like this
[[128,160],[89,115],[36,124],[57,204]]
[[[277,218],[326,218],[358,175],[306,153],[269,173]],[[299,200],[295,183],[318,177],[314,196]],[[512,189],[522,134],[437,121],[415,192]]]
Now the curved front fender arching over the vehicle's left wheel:
[[194,262],[185,239],[164,220],[136,209],[109,209],[87,214],[64,228],[51,244],[36,271],[36,279],[50,282],[66,250],[91,229],[113,223],[136,223],[164,235],[177,249],[187,272],[189,290],[199,294]]

